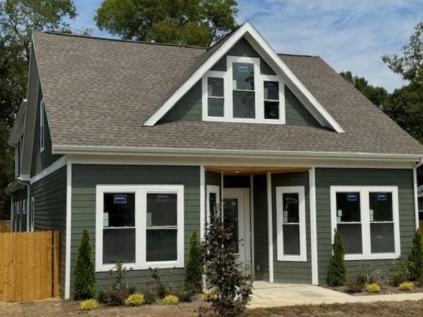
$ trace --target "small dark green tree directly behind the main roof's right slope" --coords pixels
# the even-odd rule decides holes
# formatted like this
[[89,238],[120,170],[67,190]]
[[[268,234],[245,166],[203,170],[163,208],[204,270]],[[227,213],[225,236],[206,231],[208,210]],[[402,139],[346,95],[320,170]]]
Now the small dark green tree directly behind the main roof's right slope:
[[375,106],[383,106],[388,97],[388,92],[385,88],[380,86],[373,86],[368,84],[368,81],[364,77],[353,76],[350,70],[339,73],[346,81],[357,88],[370,102],[373,102]]

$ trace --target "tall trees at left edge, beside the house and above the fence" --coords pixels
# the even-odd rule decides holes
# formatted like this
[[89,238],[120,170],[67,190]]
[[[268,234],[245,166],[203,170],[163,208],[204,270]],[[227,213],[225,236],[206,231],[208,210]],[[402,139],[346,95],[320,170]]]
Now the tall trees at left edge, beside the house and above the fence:
[[75,19],[73,0],[0,1],[0,217],[10,217],[4,188],[13,179],[14,153],[8,146],[10,128],[26,97],[32,30],[70,32],[64,19]]

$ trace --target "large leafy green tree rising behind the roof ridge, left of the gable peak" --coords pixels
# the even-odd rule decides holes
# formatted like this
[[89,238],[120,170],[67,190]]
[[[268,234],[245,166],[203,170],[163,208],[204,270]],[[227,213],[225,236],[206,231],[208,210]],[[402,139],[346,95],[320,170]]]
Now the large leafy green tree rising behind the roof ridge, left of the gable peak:
[[103,0],[100,30],[122,39],[209,46],[236,26],[236,0]]

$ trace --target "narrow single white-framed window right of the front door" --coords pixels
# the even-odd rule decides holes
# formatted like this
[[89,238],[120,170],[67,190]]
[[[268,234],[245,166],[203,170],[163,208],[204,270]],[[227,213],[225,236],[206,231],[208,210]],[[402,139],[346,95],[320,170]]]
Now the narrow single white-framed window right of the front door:
[[304,186],[276,187],[278,261],[307,261]]

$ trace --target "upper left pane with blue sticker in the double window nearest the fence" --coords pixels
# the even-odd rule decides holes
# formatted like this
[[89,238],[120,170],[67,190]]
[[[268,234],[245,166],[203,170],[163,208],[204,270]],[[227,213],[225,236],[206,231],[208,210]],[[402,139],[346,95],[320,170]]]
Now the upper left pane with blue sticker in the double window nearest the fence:
[[104,193],[104,227],[135,227],[135,193]]

